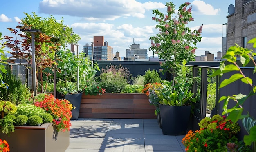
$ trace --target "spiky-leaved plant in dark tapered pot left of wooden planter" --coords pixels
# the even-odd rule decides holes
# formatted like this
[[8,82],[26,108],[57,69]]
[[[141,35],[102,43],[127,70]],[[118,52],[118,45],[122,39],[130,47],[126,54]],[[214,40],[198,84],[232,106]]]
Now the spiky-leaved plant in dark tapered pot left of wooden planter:
[[78,92],[77,83],[66,81],[65,86],[60,88],[60,93],[63,94],[65,99],[70,101],[70,103],[74,106],[71,111],[72,119],[78,119],[82,93]]

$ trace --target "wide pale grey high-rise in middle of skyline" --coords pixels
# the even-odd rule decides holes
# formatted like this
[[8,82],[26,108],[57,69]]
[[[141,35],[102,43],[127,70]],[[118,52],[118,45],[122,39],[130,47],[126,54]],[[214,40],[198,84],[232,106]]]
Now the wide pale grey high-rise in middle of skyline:
[[126,57],[128,61],[148,59],[148,50],[139,48],[139,44],[132,44],[129,49],[126,49]]

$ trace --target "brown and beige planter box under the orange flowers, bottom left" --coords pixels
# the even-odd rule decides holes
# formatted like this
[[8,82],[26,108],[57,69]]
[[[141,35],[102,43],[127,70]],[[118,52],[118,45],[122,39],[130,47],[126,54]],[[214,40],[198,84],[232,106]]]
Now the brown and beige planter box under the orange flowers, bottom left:
[[52,123],[41,126],[17,126],[8,137],[0,138],[9,143],[11,152],[65,152],[70,144],[70,132],[56,132]]

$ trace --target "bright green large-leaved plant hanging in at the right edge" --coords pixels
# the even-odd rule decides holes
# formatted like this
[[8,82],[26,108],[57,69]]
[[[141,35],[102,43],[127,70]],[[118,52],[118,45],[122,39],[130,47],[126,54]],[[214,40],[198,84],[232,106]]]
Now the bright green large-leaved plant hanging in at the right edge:
[[[248,43],[253,44],[253,48],[256,48],[256,38],[249,40]],[[211,77],[216,75],[222,76],[225,73],[233,72],[234,74],[229,77],[229,79],[224,79],[221,83],[219,88],[223,88],[235,81],[240,80],[244,84],[247,84],[252,90],[248,93],[248,95],[243,95],[239,93],[237,95],[229,95],[229,96],[222,96],[220,97],[218,102],[223,102],[223,112],[222,115],[228,115],[228,119],[231,119],[234,123],[240,119],[245,117],[249,117],[249,114],[243,115],[243,104],[246,100],[255,95],[256,86],[253,84],[253,81],[250,77],[247,77],[242,69],[240,68],[240,64],[245,67],[249,62],[252,62],[254,65],[253,74],[256,72],[256,63],[254,61],[254,56],[256,53],[253,50],[243,48],[236,44],[235,46],[231,46],[228,50],[226,55],[222,57],[222,62],[220,62],[220,69],[216,70]],[[240,56],[240,61],[237,60],[237,56]],[[229,101],[234,101],[236,103],[235,106],[230,107],[228,105]],[[244,136],[244,142],[246,145],[251,145],[253,142],[256,142],[256,126],[252,126],[249,130],[249,135]],[[254,149],[255,150],[255,149]]]

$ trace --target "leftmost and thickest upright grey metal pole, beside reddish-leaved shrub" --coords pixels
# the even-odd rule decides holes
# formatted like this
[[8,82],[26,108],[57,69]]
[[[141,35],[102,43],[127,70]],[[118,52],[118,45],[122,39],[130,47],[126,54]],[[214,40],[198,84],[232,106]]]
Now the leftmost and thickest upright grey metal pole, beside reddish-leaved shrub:
[[36,59],[35,59],[35,33],[31,32],[32,37],[32,86],[34,96],[37,95],[36,91]]

